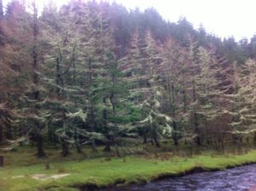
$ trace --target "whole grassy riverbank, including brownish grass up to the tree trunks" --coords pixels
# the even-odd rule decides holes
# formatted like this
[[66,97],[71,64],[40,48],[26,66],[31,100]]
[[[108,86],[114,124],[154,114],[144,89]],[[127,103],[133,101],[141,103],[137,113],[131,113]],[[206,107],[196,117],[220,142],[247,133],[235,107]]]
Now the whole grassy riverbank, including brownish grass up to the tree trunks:
[[[22,153],[22,154],[21,154]],[[36,159],[32,148],[20,148],[17,152],[0,153],[7,163],[0,169],[1,191],[74,191],[86,184],[98,187],[116,183],[150,182],[163,176],[179,176],[201,168],[204,171],[223,170],[227,167],[256,162],[256,150],[242,154],[199,153],[192,156],[177,156],[173,153],[155,153],[117,158],[84,159],[84,154],[73,155],[67,159],[49,150],[47,159]],[[87,156],[88,158],[88,153]],[[45,164],[50,168],[46,170]],[[35,180],[35,174],[48,176],[69,174],[60,179]]]

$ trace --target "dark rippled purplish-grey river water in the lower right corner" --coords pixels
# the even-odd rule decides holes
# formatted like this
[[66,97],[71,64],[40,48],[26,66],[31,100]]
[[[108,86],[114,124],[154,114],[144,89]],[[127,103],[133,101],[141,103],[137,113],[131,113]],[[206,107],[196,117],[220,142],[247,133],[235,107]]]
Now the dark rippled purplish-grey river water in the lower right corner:
[[256,165],[245,165],[225,171],[202,172],[184,177],[125,188],[108,188],[108,191],[256,191]]

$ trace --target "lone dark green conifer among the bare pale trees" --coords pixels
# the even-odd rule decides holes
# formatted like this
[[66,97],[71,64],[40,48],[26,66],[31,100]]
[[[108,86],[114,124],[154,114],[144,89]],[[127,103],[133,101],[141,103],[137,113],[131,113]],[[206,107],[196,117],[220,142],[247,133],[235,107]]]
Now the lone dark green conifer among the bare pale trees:
[[99,97],[102,96],[104,98],[103,107],[105,108],[103,108],[103,115],[108,113],[108,118],[103,116],[104,124],[108,127],[105,134],[108,139],[107,147],[110,146],[109,142],[113,141],[116,155],[121,157],[118,143],[120,131],[118,113],[120,113],[121,105],[124,104],[125,96],[129,95],[125,88],[125,82],[122,80],[122,73],[119,71],[118,62],[111,51],[107,55],[106,68],[106,76],[103,76],[101,83],[96,86],[97,94]]

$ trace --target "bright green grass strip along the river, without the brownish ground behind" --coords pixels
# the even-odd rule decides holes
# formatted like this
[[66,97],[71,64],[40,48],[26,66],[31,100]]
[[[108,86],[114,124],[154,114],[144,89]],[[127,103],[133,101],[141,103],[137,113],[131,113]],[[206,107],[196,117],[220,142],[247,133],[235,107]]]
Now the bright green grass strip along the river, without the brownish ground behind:
[[[145,159],[144,157],[84,159],[55,162],[50,164],[50,170],[45,170],[44,164],[19,166],[7,165],[0,170],[0,190],[78,190],[75,186],[94,183],[98,186],[113,185],[115,182],[149,182],[163,175],[181,175],[195,167],[206,171],[222,170],[228,166],[236,166],[256,162],[256,151],[241,155],[201,154],[193,158],[172,157],[169,160]],[[34,174],[63,174],[70,176],[57,180],[34,180]],[[17,177],[25,176],[25,177]],[[16,177],[16,178],[15,178]],[[121,181],[122,180],[122,181]]]

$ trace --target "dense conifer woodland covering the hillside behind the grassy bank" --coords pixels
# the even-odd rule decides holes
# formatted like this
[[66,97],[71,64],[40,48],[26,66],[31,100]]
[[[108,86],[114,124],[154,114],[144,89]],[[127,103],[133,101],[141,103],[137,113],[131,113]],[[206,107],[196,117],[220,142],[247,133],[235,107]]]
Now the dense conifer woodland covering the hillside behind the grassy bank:
[[83,152],[131,139],[256,143],[256,36],[218,38],[154,9],[0,0],[0,144]]

